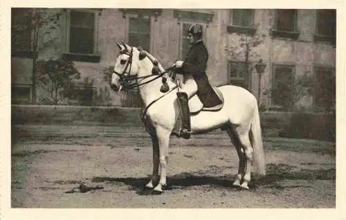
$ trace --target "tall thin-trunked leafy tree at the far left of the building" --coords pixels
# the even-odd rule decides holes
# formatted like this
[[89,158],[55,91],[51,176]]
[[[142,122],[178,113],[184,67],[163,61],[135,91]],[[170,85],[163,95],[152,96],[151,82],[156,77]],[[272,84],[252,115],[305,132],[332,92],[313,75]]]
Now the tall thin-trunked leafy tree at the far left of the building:
[[62,11],[49,8],[12,8],[12,53],[32,51],[33,103],[36,102],[37,60],[39,52],[55,46],[53,30],[60,27]]

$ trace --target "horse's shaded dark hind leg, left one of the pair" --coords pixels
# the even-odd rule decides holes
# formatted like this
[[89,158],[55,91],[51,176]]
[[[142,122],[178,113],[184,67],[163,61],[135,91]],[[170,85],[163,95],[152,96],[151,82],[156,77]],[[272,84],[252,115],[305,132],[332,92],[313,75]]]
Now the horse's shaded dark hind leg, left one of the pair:
[[233,182],[233,185],[240,186],[240,183],[242,182],[242,178],[245,174],[246,157],[245,157],[244,151],[242,150],[242,144],[240,143],[238,136],[236,136],[234,131],[232,130],[232,127],[228,127],[226,131],[228,133],[228,136],[230,136],[230,140],[235,146],[235,149],[237,149],[237,153],[239,157],[238,174],[237,174],[237,178]]

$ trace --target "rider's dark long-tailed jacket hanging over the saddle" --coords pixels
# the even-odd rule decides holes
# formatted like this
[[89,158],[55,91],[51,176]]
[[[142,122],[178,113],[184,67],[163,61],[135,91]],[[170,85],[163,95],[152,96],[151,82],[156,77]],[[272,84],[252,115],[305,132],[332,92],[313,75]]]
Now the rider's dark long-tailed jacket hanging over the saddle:
[[215,107],[221,104],[221,100],[212,89],[206,75],[208,56],[208,50],[202,41],[194,43],[185,57],[180,73],[190,73],[192,75],[197,83],[197,95],[204,107]]

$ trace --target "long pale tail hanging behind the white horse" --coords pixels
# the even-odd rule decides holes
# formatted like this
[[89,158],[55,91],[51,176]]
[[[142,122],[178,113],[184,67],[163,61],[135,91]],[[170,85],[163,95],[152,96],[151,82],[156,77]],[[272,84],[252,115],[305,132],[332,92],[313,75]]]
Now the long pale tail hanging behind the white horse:
[[265,176],[266,162],[264,160],[260,113],[258,111],[257,103],[255,103],[255,109],[253,110],[251,134],[253,139],[253,172],[260,176]]

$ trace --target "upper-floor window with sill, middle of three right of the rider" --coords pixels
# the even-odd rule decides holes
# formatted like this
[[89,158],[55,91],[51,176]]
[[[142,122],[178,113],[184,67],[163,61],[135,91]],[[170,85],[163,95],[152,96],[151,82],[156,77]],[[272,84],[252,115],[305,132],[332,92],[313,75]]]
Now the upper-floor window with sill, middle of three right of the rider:
[[296,9],[277,9],[275,17],[275,30],[273,37],[287,37],[297,39],[297,10]]

